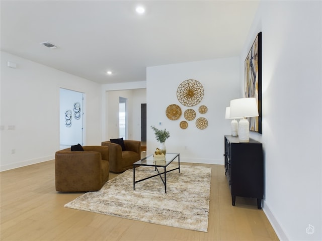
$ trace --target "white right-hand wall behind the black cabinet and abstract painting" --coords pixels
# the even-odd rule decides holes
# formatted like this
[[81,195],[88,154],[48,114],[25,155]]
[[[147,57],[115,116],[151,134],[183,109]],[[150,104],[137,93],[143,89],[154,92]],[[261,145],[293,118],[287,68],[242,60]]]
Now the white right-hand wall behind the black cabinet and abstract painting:
[[[321,2],[261,1],[240,56],[263,38],[264,211],[281,240],[321,240]],[[244,71],[240,68],[240,97]],[[315,227],[313,234],[306,228]]]

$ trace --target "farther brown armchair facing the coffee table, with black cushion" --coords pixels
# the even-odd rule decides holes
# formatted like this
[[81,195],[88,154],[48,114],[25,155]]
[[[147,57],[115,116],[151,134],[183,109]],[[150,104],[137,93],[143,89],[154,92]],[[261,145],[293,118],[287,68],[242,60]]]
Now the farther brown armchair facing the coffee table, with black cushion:
[[121,173],[133,168],[133,163],[141,160],[141,142],[124,140],[125,150],[119,144],[110,141],[102,142],[102,146],[109,147],[110,171]]

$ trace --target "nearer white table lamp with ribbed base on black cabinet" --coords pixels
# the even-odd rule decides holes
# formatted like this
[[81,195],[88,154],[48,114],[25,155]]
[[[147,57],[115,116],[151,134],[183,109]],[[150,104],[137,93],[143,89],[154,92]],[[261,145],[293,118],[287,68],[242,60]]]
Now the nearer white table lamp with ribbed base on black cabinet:
[[250,123],[245,117],[259,116],[256,98],[230,100],[230,118],[242,116],[238,123],[239,142],[250,141]]

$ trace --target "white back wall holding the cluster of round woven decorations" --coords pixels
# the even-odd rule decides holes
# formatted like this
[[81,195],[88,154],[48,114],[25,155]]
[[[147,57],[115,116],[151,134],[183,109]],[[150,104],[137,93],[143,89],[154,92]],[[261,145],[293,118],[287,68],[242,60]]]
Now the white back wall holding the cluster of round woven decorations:
[[[199,81],[204,88],[204,97],[196,106],[184,106],[177,98],[178,86],[187,79]],[[167,129],[170,138],[166,141],[167,152],[179,152],[184,162],[223,164],[224,135],[230,134],[230,121],[225,119],[229,101],[239,95],[239,59],[224,58],[181,64],[148,67],[147,86],[147,153],[154,152],[159,144],[150,126]],[[166,116],[170,104],[177,104],[182,115],[177,121]],[[206,105],[208,112],[200,114],[198,108]],[[192,108],[196,118],[183,130],[184,111]],[[195,121],[205,117],[208,127],[199,130]],[[162,125],[159,125],[159,122]]]

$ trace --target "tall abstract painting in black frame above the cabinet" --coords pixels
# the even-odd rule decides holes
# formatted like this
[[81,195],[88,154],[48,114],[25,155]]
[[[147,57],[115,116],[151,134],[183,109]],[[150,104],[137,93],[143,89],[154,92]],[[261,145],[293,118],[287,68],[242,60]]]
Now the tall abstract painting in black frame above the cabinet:
[[255,97],[259,116],[248,117],[250,130],[262,134],[262,32],[245,59],[245,97]]

